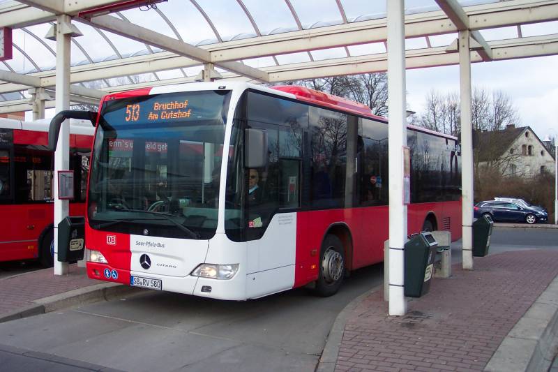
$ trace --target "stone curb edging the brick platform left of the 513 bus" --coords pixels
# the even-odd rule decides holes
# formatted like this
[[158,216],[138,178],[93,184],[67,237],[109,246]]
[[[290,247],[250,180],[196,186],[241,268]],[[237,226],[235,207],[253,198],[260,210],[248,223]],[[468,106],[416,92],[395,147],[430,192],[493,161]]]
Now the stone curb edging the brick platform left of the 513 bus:
[[88,285],[87,287],[70,290],[59,295],[36,299],[31,305],[18,308],[9,313],[0,314],[0,323],[84,304],[92,304],[93,302],[108,301],[114,297],[128,297],[141,292],[144,292],[143,288],[133,288],[119,283]]

